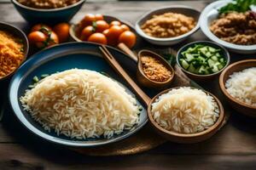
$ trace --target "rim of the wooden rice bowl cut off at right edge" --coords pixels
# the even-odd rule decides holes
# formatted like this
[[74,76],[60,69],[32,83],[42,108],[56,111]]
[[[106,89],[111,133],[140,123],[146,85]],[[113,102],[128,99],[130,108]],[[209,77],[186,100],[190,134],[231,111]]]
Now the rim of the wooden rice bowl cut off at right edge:
[[[254,109],[256,110],[256,106],[253,106],[253,105],[248,105],[244,102],[241,102],[240,100],[232,97],[228,92],[227,92],[227,89],[225,88],[225,85],[224,85],[224,76],[226,75],[227,71],[229,71],[232,67],[237,67],[238,65],[243,65],[245,63],[250,63],[250,62],[255,62],[256,63],[256,59],[244,59],[244,60],[241,60],[241,61],[237,61],[231,65],[229,65],[228,67],[226,67],[224,69],[224,71],[222,71],[221,75],[219,76],[219,87],[221,88],[222,92],[224,93],[224,95],[226,97],[228,97],[230,100],[232,100],[233,102],[235,102],[237,105],[241,105],[243,107],[247,107],[249,109]],[[233,74],[234,72],[232,72],[231,74]],[[230,75],[229,75],[230,76]]]

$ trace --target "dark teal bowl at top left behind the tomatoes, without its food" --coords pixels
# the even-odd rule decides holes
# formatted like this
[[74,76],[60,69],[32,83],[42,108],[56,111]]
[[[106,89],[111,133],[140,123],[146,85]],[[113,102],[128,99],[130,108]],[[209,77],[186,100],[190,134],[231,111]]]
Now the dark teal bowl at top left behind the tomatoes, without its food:
[[73,15],[83,6],[84,2],[85,0],[80,0],[78,3],[63,8],[44,9],[27,7],[18,3],[17,0],[12,0],[15,8],[26,21],[31,23],[41,22],[45,24],[55,24],[71,20]]

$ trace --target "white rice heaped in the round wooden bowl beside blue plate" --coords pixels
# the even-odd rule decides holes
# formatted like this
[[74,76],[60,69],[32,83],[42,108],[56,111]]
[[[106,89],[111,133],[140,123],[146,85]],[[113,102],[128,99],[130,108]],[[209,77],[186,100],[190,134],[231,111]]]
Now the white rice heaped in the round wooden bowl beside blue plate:
[[198,133],[217,122],[219,111],[211,95],[195,88],[173,88],[152,104],[154,121],[176,133]]

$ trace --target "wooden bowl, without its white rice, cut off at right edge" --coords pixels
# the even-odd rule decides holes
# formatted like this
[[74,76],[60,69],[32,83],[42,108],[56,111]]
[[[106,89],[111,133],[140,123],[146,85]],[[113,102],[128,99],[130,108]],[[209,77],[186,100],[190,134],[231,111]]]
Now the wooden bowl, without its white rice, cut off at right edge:
[[225,88],[225,82],[227,82],[231,74],[234,72],[243,71],[250,67],[256,67],[256,59],[241,60],[228,66],[219,77],[219,86],[225,98],[234,110],[246,116],[256,117],[256,106],[247,105],[246,103],[235,99],[227,92],[227,89]]

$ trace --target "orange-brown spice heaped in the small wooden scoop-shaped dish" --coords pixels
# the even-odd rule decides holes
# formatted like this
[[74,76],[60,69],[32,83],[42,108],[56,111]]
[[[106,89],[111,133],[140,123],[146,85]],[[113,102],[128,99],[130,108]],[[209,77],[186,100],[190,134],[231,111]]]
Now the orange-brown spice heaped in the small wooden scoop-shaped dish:
[[159,59],[143,56],[141,61],[145,76],[152,81],[166,82],[172,76],[172,72],[169,71],[165,65],[160,63]]

